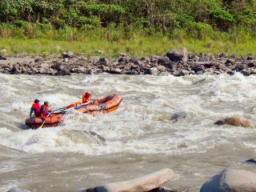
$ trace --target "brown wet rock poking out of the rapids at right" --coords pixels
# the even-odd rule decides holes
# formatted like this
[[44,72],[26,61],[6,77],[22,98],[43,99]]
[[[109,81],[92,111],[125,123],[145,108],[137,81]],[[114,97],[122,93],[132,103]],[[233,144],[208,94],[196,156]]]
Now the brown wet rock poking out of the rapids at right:
[[244,126],[244,127],[251,126],[250,120],[245,118],[240,118],[240,117],[224,118],[222,120],[218,120],[217,122],[214,122],[214,125],[218,125],[218,126],[222,126],[225,124],[230,126]]

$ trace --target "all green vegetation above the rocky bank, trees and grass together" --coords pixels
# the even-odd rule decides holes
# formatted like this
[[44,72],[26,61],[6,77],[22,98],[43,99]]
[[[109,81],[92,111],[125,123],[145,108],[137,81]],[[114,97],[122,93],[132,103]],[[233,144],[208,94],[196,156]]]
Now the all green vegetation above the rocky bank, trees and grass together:
[[[10,54],[255,54],[255,0],[1,0],[0,49]],[[60,49],[54,49],[60,46]]]

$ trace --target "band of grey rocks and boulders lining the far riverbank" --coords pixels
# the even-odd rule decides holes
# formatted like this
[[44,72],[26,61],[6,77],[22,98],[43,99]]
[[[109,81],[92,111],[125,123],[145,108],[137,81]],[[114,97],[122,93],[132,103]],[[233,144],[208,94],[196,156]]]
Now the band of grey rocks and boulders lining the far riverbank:
[[[0,50],[5,52],[6,50]],[[87,58],[67,51],[60,58],[16,58],[0,56],[2,74],[151,74],[183,76],[189,74],[234,74],[241,72],[248,76],[256,74],[256,59],[226,54],[190,54],[186,48],[170,50],[164,56],[153,55],[145,58],[129,58],[120,54],[118,59]]]

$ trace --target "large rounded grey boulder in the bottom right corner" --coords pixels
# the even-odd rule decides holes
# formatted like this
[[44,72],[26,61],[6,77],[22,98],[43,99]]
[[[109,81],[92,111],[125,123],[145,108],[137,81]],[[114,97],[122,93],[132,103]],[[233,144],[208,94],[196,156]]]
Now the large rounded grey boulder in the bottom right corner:
[[200,192],[255,192],[256,174],[246,170],[222,170],[205,182]]

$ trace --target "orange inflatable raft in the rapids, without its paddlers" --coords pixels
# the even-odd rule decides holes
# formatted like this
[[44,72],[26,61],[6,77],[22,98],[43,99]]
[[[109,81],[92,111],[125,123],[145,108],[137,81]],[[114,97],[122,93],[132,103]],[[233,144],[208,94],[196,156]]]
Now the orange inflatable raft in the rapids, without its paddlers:
[[37,129],[40,126],[42,127],[58,126],[59,124],[61,124],[61,122],[63,122],[66,113],[68,113],[73,108],[76,112],[80,112],[80,113],[107,114],[118,109],[119,104],[122,102],[122,96],[118,94],[113,94],[113,95],[107,96],[106,98],[102,98],[96,101],[97,101],[96,102],[97,104],[96,103],[83,104],[83,103],[75,102],[78,106],[74,106],[70,109],[66,109],[66,107],[63,107],[62,109],[55,110],[46,119],[42,119],[41,117],[27,118],[26,126],[29,126],[32,129]]

